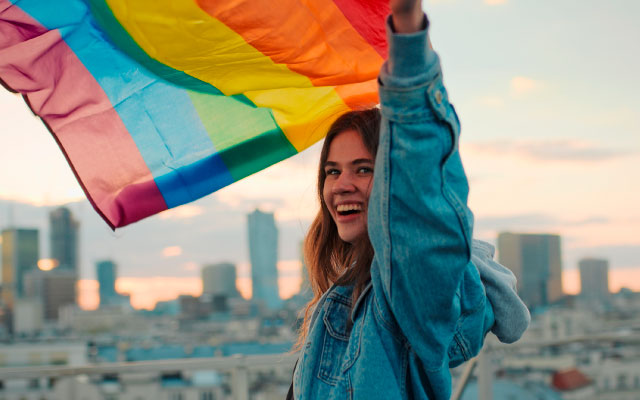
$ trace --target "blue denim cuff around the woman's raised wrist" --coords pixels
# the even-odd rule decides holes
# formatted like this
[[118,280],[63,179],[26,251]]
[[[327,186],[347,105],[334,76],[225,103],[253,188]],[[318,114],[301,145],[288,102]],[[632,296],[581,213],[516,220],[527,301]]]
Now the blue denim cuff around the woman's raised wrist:
[[380,72],[384,86],[412,87],[434,79],[440,71],[438,55],[429,48],[429,22],[413,33],[395,33],[392,17],[387,18],[389,59]]

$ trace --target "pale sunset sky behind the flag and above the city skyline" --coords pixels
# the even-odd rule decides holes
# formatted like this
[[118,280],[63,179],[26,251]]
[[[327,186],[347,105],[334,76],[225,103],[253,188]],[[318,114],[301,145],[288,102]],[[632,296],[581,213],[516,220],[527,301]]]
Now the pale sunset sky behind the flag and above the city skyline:
[[[609,259],[612,290],[640,290],[640,2],[438,0],[425,10],[462,122],[475,236],[560,234],[567,292],[579,291],[577,261],[587,256]],[[113,258],[118,288],[150,307],[162,296],[197,294],[201,265],[226,260],[238,263],[248,296],[245,215],[260,207],[276,214],[281,293],[289,295],[317,210],[318,154],[316,145],[111,233],[44,126],[0,90],[0,228],[41,227],[46,255],[46,210],[72,203],[83,221],[83,304],[95,303],[93,263]]]

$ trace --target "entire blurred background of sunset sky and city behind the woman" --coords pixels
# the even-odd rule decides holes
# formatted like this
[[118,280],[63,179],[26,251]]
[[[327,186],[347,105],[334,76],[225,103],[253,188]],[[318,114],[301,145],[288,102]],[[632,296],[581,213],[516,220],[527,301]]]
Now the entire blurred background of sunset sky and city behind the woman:
[[[533,316],[452,399],[640,399],[640,2],[424,5],[474,234]],[[284,399],[318,157],[111,232],[0,90],[0,400]]]

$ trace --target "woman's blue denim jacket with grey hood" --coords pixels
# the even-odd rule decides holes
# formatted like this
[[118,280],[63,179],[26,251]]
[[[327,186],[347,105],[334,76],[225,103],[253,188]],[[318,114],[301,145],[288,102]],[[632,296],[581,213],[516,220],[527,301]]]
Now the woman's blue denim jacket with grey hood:
[[296,399],[448,399],[450,367],[475,356],[489,330],[512,342],[529,322],[513,274],[472,240],[459,122],[427,29],[400,35],[387,25],[371,281],[355,305],[351,286],[334,285],[318,302]]

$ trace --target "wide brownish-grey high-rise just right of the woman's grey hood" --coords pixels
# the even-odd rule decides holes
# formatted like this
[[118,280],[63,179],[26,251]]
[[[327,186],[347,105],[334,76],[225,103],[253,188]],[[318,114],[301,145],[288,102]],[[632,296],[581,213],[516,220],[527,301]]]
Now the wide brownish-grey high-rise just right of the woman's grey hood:
[[518,279],[518,294],[530,309],[563,296],[560,236],[502,232],[498,253],[500,263]]

